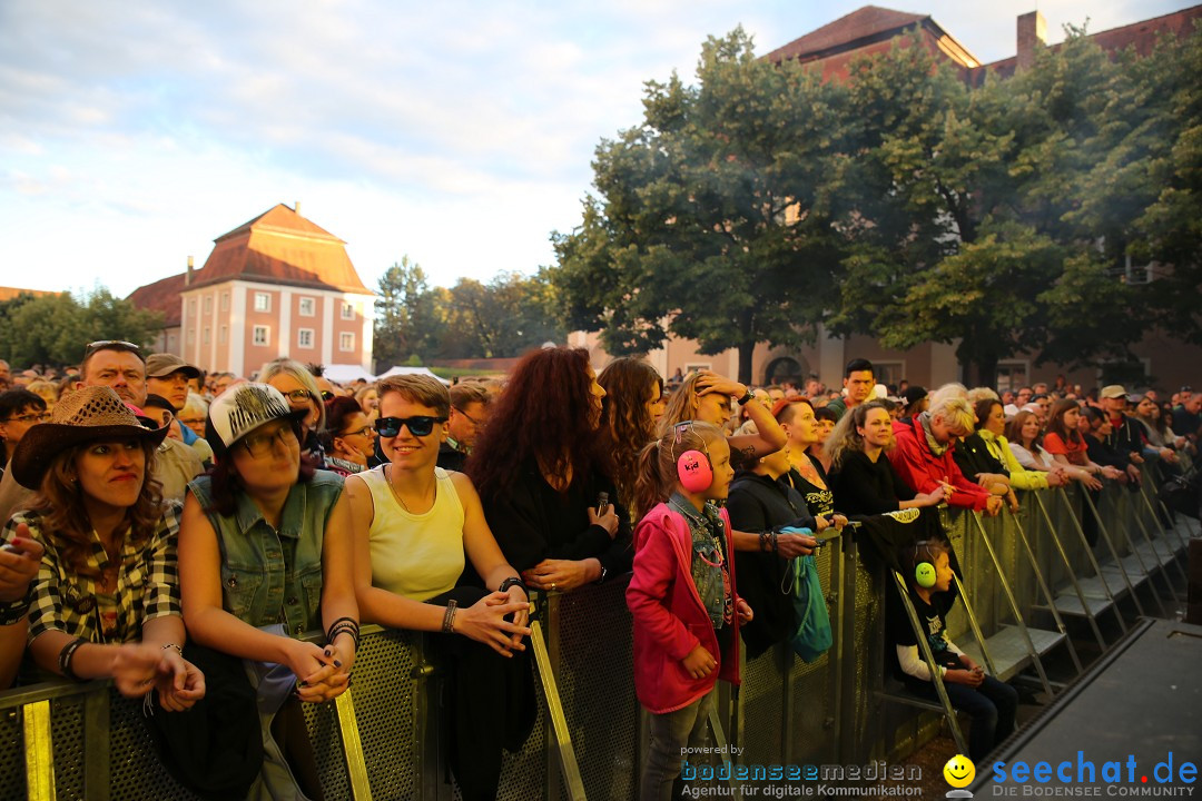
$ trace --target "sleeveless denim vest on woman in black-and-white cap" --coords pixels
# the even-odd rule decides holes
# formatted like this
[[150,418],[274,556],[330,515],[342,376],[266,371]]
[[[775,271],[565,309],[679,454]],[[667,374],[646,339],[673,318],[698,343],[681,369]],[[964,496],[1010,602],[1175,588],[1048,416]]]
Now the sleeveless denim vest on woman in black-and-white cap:
[[255,627],[282,623],[294,636],[321,628],[321,546],[343,477],[319,470],[311,480],[296,484],[284,502],[279,530],[245,492],[238,492],[234,513],[226,516],[208,510],[208,476],[188,488],[218,534],[226,611]]

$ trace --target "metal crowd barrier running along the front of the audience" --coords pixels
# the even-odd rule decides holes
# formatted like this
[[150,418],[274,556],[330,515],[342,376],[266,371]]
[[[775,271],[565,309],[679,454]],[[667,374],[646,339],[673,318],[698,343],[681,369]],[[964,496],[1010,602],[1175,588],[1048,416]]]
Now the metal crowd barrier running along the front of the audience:
[[[1184,576],[1179,560],[1196,524],[1165,526],[1146,485],[1147,492],[1102,494],[1102,531],[1093,550],[1079,526],[1091,514],[1089,498],[1078,490],[1025,494],[1018,515],[948,514],[968,602],[957,604],[950,634],[1004,679],[1033,679],[1054,694],[1064,683],[1047,669],[1053,651],[1063,648],[1070,673],[1079,674],[1084,642],[1106,650],[1135,615],[1171,614],[1174,578]],[[739,689],[720,682],[714,743],[742,749],[722,759],[895,761],[945,718],[954,719],[947,709],[939,715],[939,705],[897,704],[900,697],[888,688],[883,597],[895,592],[897,578],[869,570],[851,536],[822,549],[817,568],[834,644],[809,664],[779,645],[745,660]],[[627,580],[537,599],[531,662],[538,717],[520,752],[505,755],[498,797],[635,797],[647,725],[633,691]],[[353,695],[304,705],[326,799],[456,797],[446,782],[439,677],[421,634],[364,627]],[[0,693],[0,800],[22,797],[194,796],[159,763],[141,704],[120,698],[108,682],[59,682]]]

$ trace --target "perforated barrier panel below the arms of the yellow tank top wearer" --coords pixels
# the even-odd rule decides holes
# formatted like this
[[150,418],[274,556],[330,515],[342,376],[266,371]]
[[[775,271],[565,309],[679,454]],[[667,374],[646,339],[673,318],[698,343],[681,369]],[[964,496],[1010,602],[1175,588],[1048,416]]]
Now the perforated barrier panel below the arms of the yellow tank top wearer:
[[[419,635],[412,632],[394,629],[369,634],[363,638],[355,658],[355,717],[371,795],[376,799],[410,799],[416,795],[417,693],[423,692],[426,683],[413,679],[413,670],[418,666],[418,639]],[[438,713],[433,703],[429,712]],[[331,751],[337,753],[338,759],[343,758],[340,742]],[[323,770],[322,775],[326,772]],[[341,769],[341,776],[345,781],[345,769]],[[329,795],[327,790],[327,795],[332,799],[349,797],[350,789],[344,795]]]

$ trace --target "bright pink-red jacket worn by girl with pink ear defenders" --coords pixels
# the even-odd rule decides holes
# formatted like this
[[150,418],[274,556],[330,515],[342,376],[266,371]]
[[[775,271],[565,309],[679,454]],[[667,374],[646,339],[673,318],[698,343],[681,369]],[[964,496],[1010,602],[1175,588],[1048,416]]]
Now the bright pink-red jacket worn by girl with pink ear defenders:
[[[726,524],[726,555],[733,551],[731,519]],[[689,524],[666,503],[648,512],[635,530],[635,575],[626,587],[626,606],[635,618],[635,693],[654,715],[674,712],[714,688],[719,679],[739,683],[739,617],[734,615],[733,644],[720,653],[709,612],[692,582],[692,534]],[[733,567],[733,562],[728,562]],[[736,600],[734,570],[730,570]],[[718,659],[718,669],[694,679],[683,660],[697,644]]]

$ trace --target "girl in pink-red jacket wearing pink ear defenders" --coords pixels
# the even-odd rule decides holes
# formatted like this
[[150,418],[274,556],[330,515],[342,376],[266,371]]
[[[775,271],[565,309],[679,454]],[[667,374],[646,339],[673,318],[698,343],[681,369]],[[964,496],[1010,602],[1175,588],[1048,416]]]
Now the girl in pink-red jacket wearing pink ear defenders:
[[731,521],[713,501],[734,471],[722,431],[672,425],[639,454],[636,500],[649,512],[635,531],[626,605],[635,622],[635,692],[651,713],[650,753],[638,797],[672,797],[686,746],[700,746],[718,679],[739,682],[739,624],[751,608],[734,590]]

